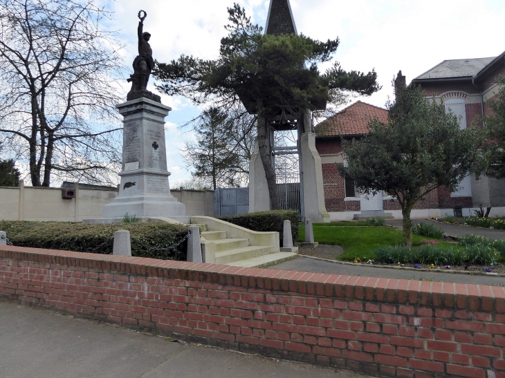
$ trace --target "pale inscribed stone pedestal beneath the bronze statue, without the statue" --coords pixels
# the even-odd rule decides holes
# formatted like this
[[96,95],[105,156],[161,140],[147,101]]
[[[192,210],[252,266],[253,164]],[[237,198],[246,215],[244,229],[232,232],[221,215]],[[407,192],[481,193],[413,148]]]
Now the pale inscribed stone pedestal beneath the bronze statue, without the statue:
[[140,98],[117,106],[124,117],[119,195],[103,209],[104,218],[185,216],[185,205],[170,193],[165,149],[169,106]]

